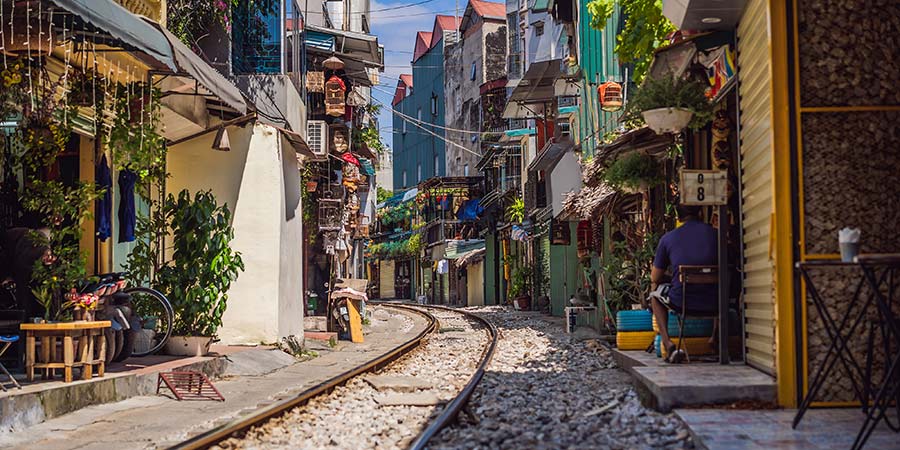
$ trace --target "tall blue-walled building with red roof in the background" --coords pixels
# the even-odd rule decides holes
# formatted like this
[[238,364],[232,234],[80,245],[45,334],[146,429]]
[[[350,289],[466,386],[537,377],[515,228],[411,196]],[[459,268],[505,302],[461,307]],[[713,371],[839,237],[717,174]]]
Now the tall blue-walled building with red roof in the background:
[[431,31],[416,34],[412,79],[394,96],[394,189],[446,174],[444,54],[458,40],[458,26],[453,16],[437,16]]

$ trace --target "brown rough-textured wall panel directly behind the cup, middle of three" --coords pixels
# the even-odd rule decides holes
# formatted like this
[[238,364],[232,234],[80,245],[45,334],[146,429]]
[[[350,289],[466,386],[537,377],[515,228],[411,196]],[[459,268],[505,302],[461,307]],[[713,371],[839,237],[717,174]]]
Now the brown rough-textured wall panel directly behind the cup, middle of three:
[[900,252],[900,113],[803,116],[806,253],[838,253],[837,233],[860,228],[864,253]]

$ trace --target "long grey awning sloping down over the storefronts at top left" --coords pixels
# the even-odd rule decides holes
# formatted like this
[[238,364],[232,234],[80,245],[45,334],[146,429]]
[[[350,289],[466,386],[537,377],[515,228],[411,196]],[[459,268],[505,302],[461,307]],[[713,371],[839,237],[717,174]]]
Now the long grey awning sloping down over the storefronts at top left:
[[112,0],[53,0],[53,3],[126,46],[145,53],[167,71],[194,78],[228,106],[241,114],[247,113],[247,102],[237,86],[159,24],[131,13]]

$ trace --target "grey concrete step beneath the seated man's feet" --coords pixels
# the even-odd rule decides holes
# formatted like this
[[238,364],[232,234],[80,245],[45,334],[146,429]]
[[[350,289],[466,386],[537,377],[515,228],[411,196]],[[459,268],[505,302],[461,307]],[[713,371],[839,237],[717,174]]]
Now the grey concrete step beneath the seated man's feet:
[[644,351],[613,350],[632,375],[641,401],[661,412],[738,401],[774,403],[775,380],[743,363],[668,364]]

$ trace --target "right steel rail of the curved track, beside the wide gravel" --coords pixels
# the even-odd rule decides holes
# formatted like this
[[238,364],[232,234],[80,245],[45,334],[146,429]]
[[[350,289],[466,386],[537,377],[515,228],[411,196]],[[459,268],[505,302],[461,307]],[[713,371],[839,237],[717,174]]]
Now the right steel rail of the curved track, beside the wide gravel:
[[475,371],[475,374],[472,375],[472,378],[466,384],[465,387],[459,392],[459,394],[447,404],[441,414],[434,419],[428,426],[416,436],[416,439],[410,444],[410,450],[422,450],[428,445],[428,441],[430,441],[434,436],[436,436],[441,430],[450,425],[456,420],[456,417],[462,411],[463,407],[469,402],[469,399],[472,397],[472,394],[475,392],[475,387],[478,386],[478,383],[481,382],[481,379],[484,377],[484,372],[487,370],[487,365],[490,364],[491,358],[494,357],[494,350],[497,347],[497,340],[499,339],[500,332],[497,331],[497,327],[491,323],[489,320],[485,319],[478,314],[463,311],[455,308],[448,308],[445,306],[437,306],[437,305],[417,305],[419,307],[425,308],[433,308],[440,309],[445,311],[452,311],[456,313],[463,314],[469,318],[477,320],[484,324],[487,328],[488,333],[490,334],[490,343],[481,353],[481,362],[478,364],[478,369]]

